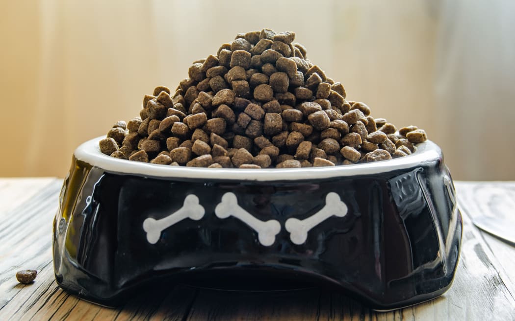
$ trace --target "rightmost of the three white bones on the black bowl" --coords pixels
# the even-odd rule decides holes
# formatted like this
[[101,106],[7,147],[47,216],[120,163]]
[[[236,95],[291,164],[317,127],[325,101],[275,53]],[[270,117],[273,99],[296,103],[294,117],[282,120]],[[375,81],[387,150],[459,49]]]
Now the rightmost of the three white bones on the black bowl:
[[347,205],[340,200],[340,196],[334,192],[325,196],[325,206],[312,216],[299,220],[297,218],[288,218],[284,227],[290,233],[290,240],[295,244],[302,244],[307,239],[307,232],[316,225],[331,216],[344,217],[347,215]]

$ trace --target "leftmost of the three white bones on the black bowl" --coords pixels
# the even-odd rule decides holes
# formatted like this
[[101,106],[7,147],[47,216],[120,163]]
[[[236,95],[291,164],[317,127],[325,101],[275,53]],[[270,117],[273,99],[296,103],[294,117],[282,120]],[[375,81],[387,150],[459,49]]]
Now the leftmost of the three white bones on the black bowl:
[[184,204],[176,212],[159,220],[149,217],[143,221],[143,230],[147,232],[148,242],[156,244],[163,230],[185,218],[198,221],[204,216],[204,213],[204,207],[199,204],[198,197],[194,194],[190,194],[184,198]]

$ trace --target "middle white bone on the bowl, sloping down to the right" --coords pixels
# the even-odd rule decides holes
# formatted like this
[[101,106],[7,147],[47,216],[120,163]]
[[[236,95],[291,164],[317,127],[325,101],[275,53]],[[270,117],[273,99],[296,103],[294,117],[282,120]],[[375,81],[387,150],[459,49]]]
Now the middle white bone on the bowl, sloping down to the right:
[[219,218],[234,216],[249,225],[258,232],[258,239],[264,246],[268,247],[276,240],[276,235],[281,231],[281,224],[277,220],[262,221],[245,211],[238,205],[238,199],[234,193],[228,192],[222,196],[222,201],[216,205],[215,214]]

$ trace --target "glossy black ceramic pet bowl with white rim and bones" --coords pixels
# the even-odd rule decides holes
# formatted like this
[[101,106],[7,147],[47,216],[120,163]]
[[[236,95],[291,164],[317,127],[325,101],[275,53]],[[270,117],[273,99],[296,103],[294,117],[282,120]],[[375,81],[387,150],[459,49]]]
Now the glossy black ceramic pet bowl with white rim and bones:
[[357,165],[221,169],[156,165],[77,148],[54,221],[68,292],[122,303],[153,282],[257,277],[335,286],[373,309],[450,286],[461,215],[440,148]]

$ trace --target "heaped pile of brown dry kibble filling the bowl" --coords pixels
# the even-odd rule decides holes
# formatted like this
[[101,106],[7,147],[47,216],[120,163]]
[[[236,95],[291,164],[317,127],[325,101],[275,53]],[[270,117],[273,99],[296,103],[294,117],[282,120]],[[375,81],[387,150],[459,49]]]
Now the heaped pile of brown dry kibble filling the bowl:
[[426,140],[415,126],[374,119],[306,57],[294,32],[240,33],[195,61],[175,93],[157,87],[140,117],[117,122],[102,153],[165,165],[334,166],[387,160]]

